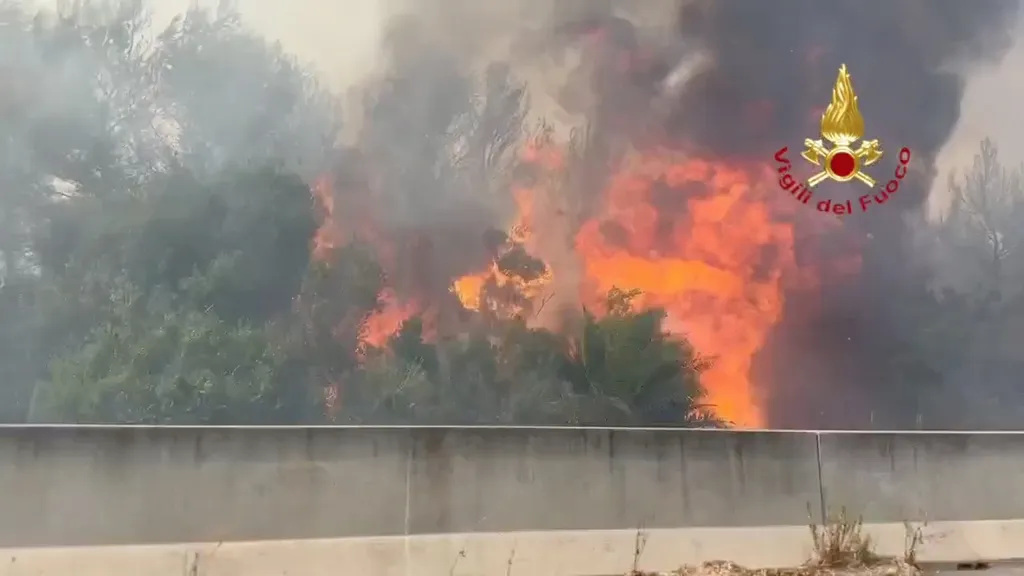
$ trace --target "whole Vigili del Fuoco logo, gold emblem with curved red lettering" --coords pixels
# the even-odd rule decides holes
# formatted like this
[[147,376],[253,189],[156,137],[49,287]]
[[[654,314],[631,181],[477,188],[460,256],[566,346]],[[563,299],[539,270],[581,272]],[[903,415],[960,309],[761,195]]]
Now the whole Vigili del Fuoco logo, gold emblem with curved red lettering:
[[[906,169],[910,164],[910,149],[899,151],[899,164],[885,188],[876,189],[876,180],[864,168],[874,166],[885,153],[878,139],[865,140],[864,117],[857,108],[857,94],[853,91],[853,82],[846,70],[846,65],[839,69],[839,78],[833,88],[833,98],[824,114],[821,115],[821,138],[804,140],[804,152],[800,156],[810,164],[818,167],[818,171],[806,181],[799,181],[793,174],[793,163],[786,154],[788,147],[782,147],[775,153],[778,163],[778,186],[798,202],[811,204],[814,200],[814,189],[825,180],[836,182],[851,182],[856,180],[869,189],[870,194],[864,194],[857,199],[861,212],[866,212],[872,204],[885,204],[896,192],[900,182],[906,177]],[[860,146],[854,145],[860,140]],[[828,148],[824,141],[831,145]],[[837,216],[853,214],[856,207],[852,200],[823,199],[815,208],[819,212],[827,212]]]

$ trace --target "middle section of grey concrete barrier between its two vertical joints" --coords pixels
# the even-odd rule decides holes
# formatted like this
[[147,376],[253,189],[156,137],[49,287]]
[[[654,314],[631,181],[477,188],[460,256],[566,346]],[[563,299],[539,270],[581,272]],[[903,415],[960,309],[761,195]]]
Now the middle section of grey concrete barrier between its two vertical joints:
[[805,524],[820,500],[815,438],[802,433],[409,434],[410,534]]

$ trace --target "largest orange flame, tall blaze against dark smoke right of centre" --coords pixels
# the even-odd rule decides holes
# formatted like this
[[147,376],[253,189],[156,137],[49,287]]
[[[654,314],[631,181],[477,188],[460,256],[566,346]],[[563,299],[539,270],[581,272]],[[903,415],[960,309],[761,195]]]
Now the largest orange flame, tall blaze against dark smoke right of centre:
[[[671,221],[654,205],[658,187],[676,197],[660,202],[685,201]],[[702,377],[709,402],[743,427],[765,422],[753,360],[781,319],[782,283],[796,270],[792,227],[773,218],[769,192],[742,169],[651,154],[611,180],[603,217],[577,236],[592,297],[638,289],[637,304],[665,308],[667,328],[715,360]],[[623,233],[617,242],[602,233],[609,224]]]

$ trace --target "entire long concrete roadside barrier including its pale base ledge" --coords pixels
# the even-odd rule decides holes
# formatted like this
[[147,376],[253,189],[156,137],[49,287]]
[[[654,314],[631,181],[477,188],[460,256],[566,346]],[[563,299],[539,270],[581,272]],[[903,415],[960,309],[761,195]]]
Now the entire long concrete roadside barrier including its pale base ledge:
[[883,551],[927,520],[926,559],[1024,558],[1022,450],[1018,434],[8,426],[0,574],[610,574],[638,534],[649,569],[775,566],[840,507]]

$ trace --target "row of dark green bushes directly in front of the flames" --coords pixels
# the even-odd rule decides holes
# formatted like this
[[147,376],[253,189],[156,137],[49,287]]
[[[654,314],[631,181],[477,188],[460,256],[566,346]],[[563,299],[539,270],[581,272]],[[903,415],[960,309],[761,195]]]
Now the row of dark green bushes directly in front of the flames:
[[424,341],[419,319],[373,349],[347,381],[346,421],[548,425],[722,425],[702,403],[709,363],[662,329],[663,313],[584,314],[579,337],[527,328]]

